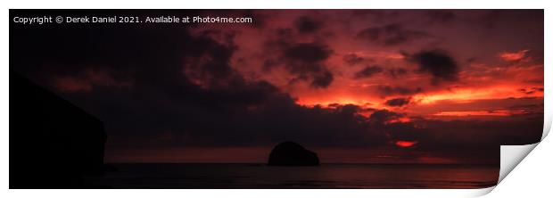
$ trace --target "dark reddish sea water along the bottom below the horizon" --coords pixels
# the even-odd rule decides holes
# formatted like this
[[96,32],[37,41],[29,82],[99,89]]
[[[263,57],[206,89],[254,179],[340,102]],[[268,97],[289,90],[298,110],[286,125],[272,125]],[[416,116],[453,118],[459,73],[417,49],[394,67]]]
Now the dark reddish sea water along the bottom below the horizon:
[[480,165],[113,164],[89,181],[106,188],[483,188],[499,167]]

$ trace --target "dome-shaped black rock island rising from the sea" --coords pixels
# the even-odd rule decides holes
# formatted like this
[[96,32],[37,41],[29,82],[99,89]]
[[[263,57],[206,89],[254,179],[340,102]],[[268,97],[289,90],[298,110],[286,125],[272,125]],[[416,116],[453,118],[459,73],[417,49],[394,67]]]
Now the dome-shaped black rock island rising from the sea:
[[277,144],[268,156],[268,166],[318,166],[317,153],[294,142]]

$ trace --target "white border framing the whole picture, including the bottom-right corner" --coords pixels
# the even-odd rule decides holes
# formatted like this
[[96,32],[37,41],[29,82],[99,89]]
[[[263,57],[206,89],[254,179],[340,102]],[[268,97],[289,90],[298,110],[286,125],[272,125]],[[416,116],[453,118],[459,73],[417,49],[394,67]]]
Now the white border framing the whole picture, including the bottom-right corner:
[[[216,2],[216,3],[214,3]],[[154,3],[154,4],[152,4]],[[4,9],[2,12],[2,41],[0,45],[4,46],[2,48],[2,53],[0,54],[4,62],[4,72],[0,72],[0,126],[2,128],[2,159],[8,159],[8,148],[9,148],[9,138],[8,138],[8,119],[9,119],[9,99],[8,99],[8,72],[7,68],[9,65],[8,62],[8,53],[9,53],[9,41],[8,41],[8,9],[7,8],[35,8],[35,9],[54,9],[54,8],[64,8],[64,9],[103,9],[103,8],[113,8],[113,9],[155,9],[155,8],[175,8],[175,9],[546,9],[545,21],[551,21],[551,14],[548,13],[548,8],[550,5],[547,4],[548,1],[539,1],[539,0],[501,0],[501,1],[483,1],[483,0],[383,0],[383,1],[359,1],[359,0],[317,0],[317,1],[291,1],[291,0],[280,0],[280,1],[267,1],[262,2],[259,0],[220,0],[220,1],[167,1],[167,0],[157,0],[157,1],[112,1],[112,0],[95,0],[87,2],[78,2],[70,0],[54,0],[54,1],[13,1],[5,2],[3,1],[0,4],[6,5],[3,6]],[[551,35],[550,25],[545,23],[545,35]],[[550,46],[550,39],[545,37],[545,52],[548,52],[548,46]],[[545,54],[545,60],[550,60],[551,54]],[[546,61],[547,63],[547,61]],[[546,122],[544,123],[544,135],[547,136],[549,128],[551,126],[551,98],[549,97],[549,88],[551,87],[551,80],[548,78],[551,75],[551,68],[545,67],[545,117]],[[546,141],[547,142],[547,141]],[[549,147],[548,147],[549,146]],[[538,146],[541,147],[541,146]],[[552,151],[550,144],[545,146],[549,148],[546,151],[540,151],[541,156],[532,156],[532,161],[526,161],[524,163],[525,171],[529,171],[529,174],[533,176],[544,176],[541,177],[543,180],[536,181],[516,181],[516,177],[513,177],[510,180],[510,177],[507,177],[505,182],[502,182],[498,189],[501,189],[501,194],[509,195],[509,191],[520,193],[531,191],[533,193],[540,192],[543,190],[543,194],[534,194],[539,197],[547,197],[549,189],[535,189],[533,186],[538,186],[538,183],[547,183],[549,177],[551,177],[550,171],[549,175],[541,174],[541,172],[548,172],[543,166],[543,164],[551,165],[549,156],[547,153]],[[538,153],[540,154],[540,153]],[[530,154],[532,155],[532,153]],[[2,179],[1,184],[8,187],[8,164],[4,160],[2,166]],[[542,169],[532,169],[533,166],[541,167]],[[550,166],[549,166],[550,168]],[[516,173],[516,171],[515,171]],[[517,173],[518,176],[529,176],[524,175],[522,172]],[[531,179],[533,177],[526,177],[526,179]],[[540,178],[540,177],[538,177]],[[504,184],[505,183],[505,184]],[[508,187],[508,185],[513,185]],[[153,197],[153,196],[164,196],[164,197],[182,197],[182,196],[192,196],[192,197],[214,197],[214,196],[230,196],[230,197],[283,197],[283,196],[293,196],[293,197],[337,197],[337,196],[347,196],[347,197],[367,197],[367,196],[401,196],[401,197],[413,197],[413,196],[424,196],[424,197],[451,197],[451,196],[465,196],[465,195],[481,195],[487,192],[490,192],[492,188],[479,189],[479,190],[278,190],[278,191],[268,191],[268,190],[86,190],[86,191],[75,191],[75,190],[6,190],[6,195],[11,197],[74,197],[78,195],[79,197],[98,197],[101,195],[111,195],[111,196],[133,196],[133,197]],[[507,193],[507,194],[505,194]],[[499,194],[499,193],[498,193]],[[493,195],[493,194],[491,194]],[[541,195],[541,196],[540,196]],[[549,194],[550,195],[550,194]]]

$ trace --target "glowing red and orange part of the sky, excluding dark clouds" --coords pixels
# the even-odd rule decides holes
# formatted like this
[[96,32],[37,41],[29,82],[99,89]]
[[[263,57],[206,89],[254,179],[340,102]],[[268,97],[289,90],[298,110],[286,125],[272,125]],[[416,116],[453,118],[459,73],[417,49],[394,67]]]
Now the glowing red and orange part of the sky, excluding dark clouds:
[[[237,52],[231,65],[235,66],[235,70],[239,70],[245,78],[267,80],[290,93],[301,105],[351,103],[440,119],[440,116],[516,114],[520,111],[508,109],[513,103],[499,101],[509,97],[543,97],[543,42],[535,37],[542,33],[539,32],[542,30],[539,21],[527,21],[524,16],[521,17],[523,19],[517,19],[516,14],[506,14],[508,16],[504,18],[507,19],[494,21],[494,27],[487,27],[477,22],[482,21],[481,17],[489,14],[487,12],[436,12],[438,13],[433,13],[437,15],[435,18],[445,13],[452,13],[454,17],[433,19],[426,16],[433,16],[428,11],[390,11],[366,15],[356,15],[351,11],[275,11],[260,12],[260,15],[266,16],[266,29],[228,26],[222,31],[234,36]],[[373,16],[378,14],[382,16]],[[291,33],[285,39],[297,43],[324,43],[332,49],[329,57],[322,62],[334,74],[332,84],[326,88],[310,87],[309,80],[290,83],[296,76],[283,69],[285,66],[275,67],[271,72],[265,72],[260,67],[268,57],[277,56],[262,50],[267,47],[266,40],[277,37],[277,29],[293,29],[300,17],[308,17],[310,21],[320,23],[320,27],[310,34]],[[406,37],[405,41],[383,45],[378,39],[366,41],[358,37],[359,32],[367,27],[388,25],[400,27],[398,31],[402,33],[385,33],[386,30],[383,30],[380,37]],[[202,34],[204,30],[193,29],[198,34]],[[424,36],[408,36],[409,32],[420,32]],[[405,36],[398,36],[400,34]],[[433,85],[431,75],[416,72],[417,63],[406,61],[406,54],[435,48],[444,49],[454,57],[460,70],[457,81]],[[358,57],[359,62],[349,65],[345,62],[348,55]],[[383,70],[370,78],[355,78],[357,72],[372,66]],[[394,77],[390,74],[391,70],[407,72]],[[410,90],[421,88],[422,91],[412,95],[384,95],[379,93],[379,87],[402,87]],[[409,107],[393,108],[385,104],[387,100],[397,97],[410,97],[410,103],[406,105]],[[486,103],[489,100],[499,101],[497,105],[490,105]],[[419,111],[421,109],[424,112]]]

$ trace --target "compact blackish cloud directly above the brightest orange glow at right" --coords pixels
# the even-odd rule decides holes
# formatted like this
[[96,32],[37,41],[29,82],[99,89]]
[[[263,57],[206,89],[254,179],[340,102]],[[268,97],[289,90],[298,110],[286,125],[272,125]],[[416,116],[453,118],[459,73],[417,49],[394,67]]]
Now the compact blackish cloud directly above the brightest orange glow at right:
[[409,55],[409,61],[417,63],[418,71],[429,73],[433,84],[441,81],[457,81],[459,68],[457,62],[442,50],[421,51]]

